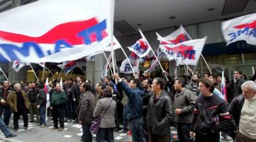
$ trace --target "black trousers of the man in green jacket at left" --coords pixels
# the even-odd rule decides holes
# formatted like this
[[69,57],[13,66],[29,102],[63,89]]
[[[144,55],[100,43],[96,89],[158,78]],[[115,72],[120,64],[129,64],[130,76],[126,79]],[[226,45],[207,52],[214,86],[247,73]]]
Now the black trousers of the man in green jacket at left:
[[58,128],[58,119],[59,125],[61,128],[64,128],[64,105],[53,106],[53,123],[54,128]]

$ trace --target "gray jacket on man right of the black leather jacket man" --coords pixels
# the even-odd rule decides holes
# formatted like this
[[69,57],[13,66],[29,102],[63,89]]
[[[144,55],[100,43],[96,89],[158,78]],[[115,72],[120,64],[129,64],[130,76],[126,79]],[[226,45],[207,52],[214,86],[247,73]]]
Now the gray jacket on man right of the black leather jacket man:
[[179,93],[176,92],[173,108],[182,109],[181,114],[177,115],[177,122],[192,123],[195,99],[196,94],[186,88]]

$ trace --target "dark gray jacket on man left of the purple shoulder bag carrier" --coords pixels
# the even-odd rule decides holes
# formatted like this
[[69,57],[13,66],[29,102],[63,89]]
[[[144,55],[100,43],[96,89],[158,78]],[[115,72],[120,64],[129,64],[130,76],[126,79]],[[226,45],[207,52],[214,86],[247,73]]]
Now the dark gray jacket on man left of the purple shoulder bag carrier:
[[82,123],[90,123],[93,119],[93,110],[95,109],[95,96],[91,91],[85,91],[81,94],[77,112],[79,112],[78,120]]

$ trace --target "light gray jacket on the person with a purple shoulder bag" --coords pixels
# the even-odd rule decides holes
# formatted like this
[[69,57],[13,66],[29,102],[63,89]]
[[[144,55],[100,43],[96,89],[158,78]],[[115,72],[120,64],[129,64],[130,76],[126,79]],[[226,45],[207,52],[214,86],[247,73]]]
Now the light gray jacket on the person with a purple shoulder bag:
[[[111,103],[109,109],[108,106]],[[108,111],[106,111],[108,109]],[[104,112],[106,113],[104,114]],[[112,101],[111,98],[99,99],[95,110],[93,112],[93,117],[98,117],[100,115],[101,123],[100,128],[114,128],[116,125],[114,123],[114,113],[116,112],[116,102]]]

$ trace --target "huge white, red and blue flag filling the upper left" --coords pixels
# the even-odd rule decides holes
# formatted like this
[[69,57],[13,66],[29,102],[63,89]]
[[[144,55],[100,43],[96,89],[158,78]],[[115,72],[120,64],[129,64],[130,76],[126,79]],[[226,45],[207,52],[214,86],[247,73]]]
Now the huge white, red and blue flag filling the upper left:
[[80,59],[111,43],[114,0],[43,0],[0,14],[0,62]]

